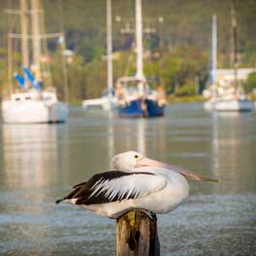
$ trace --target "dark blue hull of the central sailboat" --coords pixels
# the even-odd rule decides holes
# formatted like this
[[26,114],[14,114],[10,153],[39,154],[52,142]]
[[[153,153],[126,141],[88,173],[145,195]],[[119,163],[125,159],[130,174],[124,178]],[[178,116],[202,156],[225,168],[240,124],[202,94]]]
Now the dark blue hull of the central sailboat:
[[158,117],[164,115],[165,106],[159,106],[157,101],[145,99],[133,100],[124,107],[118,107],[119,116],[123,117]]

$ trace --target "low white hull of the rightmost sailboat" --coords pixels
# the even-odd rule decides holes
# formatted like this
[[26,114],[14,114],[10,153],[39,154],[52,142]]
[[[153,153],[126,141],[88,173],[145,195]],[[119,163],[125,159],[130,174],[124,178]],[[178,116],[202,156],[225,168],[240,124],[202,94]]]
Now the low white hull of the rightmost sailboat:
[[254,104],[249,100],[219,100],[208,101],[205,103],[205,109],[217,112],[251,112],[254,110]]

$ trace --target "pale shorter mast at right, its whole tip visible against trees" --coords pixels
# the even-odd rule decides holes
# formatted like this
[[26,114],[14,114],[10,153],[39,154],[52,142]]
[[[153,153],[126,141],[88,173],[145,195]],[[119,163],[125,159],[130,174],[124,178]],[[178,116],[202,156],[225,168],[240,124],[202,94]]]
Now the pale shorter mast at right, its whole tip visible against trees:
[[211,17],[211,82],[216,82],[217,69],[217,16]]

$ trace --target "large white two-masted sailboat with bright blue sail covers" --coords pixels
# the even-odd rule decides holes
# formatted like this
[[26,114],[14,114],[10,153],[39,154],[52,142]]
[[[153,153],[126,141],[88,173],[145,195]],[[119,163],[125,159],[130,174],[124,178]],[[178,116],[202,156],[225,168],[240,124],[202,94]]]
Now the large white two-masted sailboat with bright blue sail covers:
[[[20,16],[21,34],[9,33],[9,53],[12,53],[12,39],[21,39],[21,55],[23,64],[23,74],[15,74],[16,82],[19,89],[13,86],[13,65],[12,56],[9,56],[9,98],[2,101],[2,118],[6,123],[55,123],[65,122],[68,116],[66,104],[57,99],[57,93],[54,87],[42,88],[42,71],[41,71],[41,35],[42,20],[40,20],[40,0],[31,0],[31,10],[28,10],[27,0],[20,0],[20,10],[11,11],[10,14]],[[30,15],[30,16],[29,16]],[[28,22],[31,17],[32,34],[28,34]],[[60,34],[45,34],[45,37],[52,38]],[[62,35],[63,36],[63,35]],[[32,39],[33,67],[35,75],[29,69],[29,50],[28,39]],[[49,80],[48,72],[48,80]]]

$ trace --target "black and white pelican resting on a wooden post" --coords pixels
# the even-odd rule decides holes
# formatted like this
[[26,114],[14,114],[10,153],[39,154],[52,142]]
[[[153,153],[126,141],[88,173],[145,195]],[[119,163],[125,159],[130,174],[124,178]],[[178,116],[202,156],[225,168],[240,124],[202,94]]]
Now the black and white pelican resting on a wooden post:
[[150,212],[171,211],[188,196],[186,178],[217,182],[136,151],[115,155],[112,164],[115,171],[96,174],[75,185],[73,191],[56,204],[69,202],[110,218],[118,218],[135,208],[151,216]]

